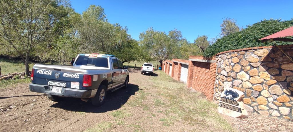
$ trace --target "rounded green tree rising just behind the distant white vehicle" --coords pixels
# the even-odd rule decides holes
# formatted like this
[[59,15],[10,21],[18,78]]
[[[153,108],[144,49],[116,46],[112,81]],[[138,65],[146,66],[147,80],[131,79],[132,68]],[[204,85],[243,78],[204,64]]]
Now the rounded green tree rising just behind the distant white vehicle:
[[146,32],[140,33],[139,38],[146,53],[158,60],[161,65],[173,53],[174,44],[171,43],[171,38],[165,32],[149,28]]

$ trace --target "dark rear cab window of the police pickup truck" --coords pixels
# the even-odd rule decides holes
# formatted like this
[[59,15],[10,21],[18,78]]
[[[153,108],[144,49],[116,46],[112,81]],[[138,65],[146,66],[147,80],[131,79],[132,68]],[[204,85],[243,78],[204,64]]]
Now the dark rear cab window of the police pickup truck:
[[108,59],[97,57],[89,58],[88,56],[79,56],[75,61],[74,65],[87,65],[87,66],[96,66],[96,67],[106,67],[108,68]]

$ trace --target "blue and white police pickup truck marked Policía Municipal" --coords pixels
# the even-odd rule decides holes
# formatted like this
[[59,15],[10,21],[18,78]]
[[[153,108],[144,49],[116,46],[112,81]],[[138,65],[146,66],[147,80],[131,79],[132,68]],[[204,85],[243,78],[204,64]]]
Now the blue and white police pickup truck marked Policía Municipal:
[[107,91],[127,88],[128,67],[114,55],[79,54],[72,66],[35,64],[30,91],[47,94],[53,101],[62,97],[91,99],[94,106],[105,102]]

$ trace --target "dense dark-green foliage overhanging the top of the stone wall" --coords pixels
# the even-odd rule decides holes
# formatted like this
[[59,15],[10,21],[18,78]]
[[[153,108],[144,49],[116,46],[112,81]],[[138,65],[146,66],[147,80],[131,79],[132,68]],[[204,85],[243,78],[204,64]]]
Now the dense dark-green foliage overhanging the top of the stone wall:
[[[205,50],[204,56],[211,57],[219,52],[227,50],[274,45],[275,42],[262,43],[259,39],[291,26],[293,26],[293,20],[282,21],[281,19],[263,20],[253,25],[248,25],[247,28],[240,32],[231,33],[230,35],[218,39]],[[288,45],[292,44],[292,42],[278,41],[277,44]]]

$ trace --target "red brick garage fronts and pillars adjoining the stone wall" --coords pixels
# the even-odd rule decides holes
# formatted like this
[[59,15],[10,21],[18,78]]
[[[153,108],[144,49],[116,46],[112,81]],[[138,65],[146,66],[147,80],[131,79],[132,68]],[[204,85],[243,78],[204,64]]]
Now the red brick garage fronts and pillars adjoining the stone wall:
[[203,56],[189,56],[189,60],[173,59],[166,60],[164,72],[169,74],[172,65],[171,77],[180,81],[182,63],[188,64],[187,87],[205,94],[207,99],[212,100],[214,96],[214,83],[216,80],[216,57],[205,58]]

